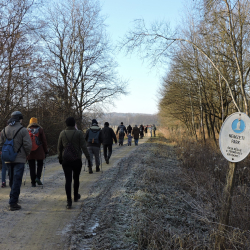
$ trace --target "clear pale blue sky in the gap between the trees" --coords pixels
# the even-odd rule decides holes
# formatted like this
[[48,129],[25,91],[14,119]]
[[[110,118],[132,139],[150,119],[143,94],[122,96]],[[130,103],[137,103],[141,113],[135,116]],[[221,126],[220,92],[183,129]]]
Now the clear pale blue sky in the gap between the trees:
[[[133,27],[135,19],[144,19],[147,23],[154,21],[170,22],[175,27],[181,21],[184,0],[100,0],[101,14],[106,16],[107,33],[111,41],[122,39]],[[151,68],[137,54],[126,56],[124,52],[116,55],[119,64],[118,73],[128,80],[129,94],[115,100],[115,107],[109,112],[156,114],[157,93],[162,82],[164,68]]]

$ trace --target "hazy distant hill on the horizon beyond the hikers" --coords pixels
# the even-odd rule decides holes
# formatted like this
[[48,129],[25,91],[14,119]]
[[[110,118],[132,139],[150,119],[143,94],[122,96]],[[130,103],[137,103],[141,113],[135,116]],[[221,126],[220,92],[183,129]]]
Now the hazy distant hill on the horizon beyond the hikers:
[[155,124],[158,125],[158,116],[151,114],[141,114],[141,113],[106,113],[103,114],[101,118],[99,118],[99,124],[103,124],[104,122],[109,122],[111,126],[117,126],[121,122],[124,123],[125,126],[130,125],[150,125]]

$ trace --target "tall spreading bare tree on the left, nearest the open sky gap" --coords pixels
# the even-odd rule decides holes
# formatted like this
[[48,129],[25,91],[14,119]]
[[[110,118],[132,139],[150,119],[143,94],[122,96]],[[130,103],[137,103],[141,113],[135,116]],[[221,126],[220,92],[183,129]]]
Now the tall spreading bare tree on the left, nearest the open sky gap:
[[74,112],[82,120],[93,105],[125,93],[96,1],[57,4],[47,21],[45,81],[65,115]]

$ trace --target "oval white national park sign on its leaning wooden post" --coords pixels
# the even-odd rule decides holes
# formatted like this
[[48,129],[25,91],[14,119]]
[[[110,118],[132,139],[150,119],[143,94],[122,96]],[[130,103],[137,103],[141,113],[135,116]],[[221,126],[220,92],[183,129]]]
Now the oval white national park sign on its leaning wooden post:
[[225,249],[224,231],[229,223],[232,194],[237,162],[242,161],[250,152],[250,118],[241,112],[230,115],[222,124],[219,144],[223,156],[229,161],[226,186],[223,191],[223,203],[220,211],[220,224],[215,248]]

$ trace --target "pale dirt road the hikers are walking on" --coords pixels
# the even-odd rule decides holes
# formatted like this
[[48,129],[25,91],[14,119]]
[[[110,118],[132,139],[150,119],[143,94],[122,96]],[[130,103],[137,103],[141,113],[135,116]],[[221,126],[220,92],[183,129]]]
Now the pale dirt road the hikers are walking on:
[[[146,139],[140,140],[140,144],[145,141]],[[66,209],[64,174],[57,162],[47,165],[43,189],[32,188],[29,174],[27,175],[26,185],[21,188],[20,211],[8,210],[10,189],[0,189],[0,249],[66,249],[69,242],[68,232],[73,228],[91,186],[135,149],[135,146],[114,146],[110,164],[103,161],[103,174],[94,172],[89,175],[82,169],[79,190],[82,198],[73,203],[71,210]]]

